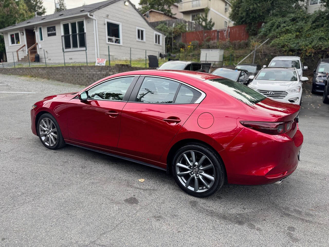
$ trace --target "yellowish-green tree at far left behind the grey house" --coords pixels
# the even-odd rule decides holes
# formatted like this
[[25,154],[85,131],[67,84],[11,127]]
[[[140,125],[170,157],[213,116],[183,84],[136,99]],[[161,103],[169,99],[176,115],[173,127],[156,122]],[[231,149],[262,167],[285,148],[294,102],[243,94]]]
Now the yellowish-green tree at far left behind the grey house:
[[[33,16],[34,14],[29,11],[24,0],[0,1],[0,29],[30,19]],[[0,52],[5,51],[4,36],[0,35]]]

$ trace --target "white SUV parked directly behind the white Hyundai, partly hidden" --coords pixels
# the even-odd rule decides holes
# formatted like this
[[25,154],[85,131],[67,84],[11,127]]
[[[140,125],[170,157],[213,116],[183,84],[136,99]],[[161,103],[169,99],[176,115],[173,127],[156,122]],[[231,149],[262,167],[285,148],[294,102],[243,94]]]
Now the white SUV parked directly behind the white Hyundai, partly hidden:
[[300,57],[293,57],[293,56],[282,56],[282,57],[275,57],[271,60],[268,67],[271,68],[296,68],[301,78],[303,76],[303,70],[308,69],[307,66],[303,67],[302,61]]

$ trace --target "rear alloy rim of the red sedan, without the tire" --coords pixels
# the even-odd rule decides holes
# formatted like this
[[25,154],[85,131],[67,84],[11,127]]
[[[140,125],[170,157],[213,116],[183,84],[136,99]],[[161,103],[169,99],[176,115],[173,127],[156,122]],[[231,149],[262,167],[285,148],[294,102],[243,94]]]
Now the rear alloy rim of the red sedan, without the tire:
[[215,183],[215,167],[210,159],[199,151],[185,151],[175,165],[178,180],[189,190],[205,192]]

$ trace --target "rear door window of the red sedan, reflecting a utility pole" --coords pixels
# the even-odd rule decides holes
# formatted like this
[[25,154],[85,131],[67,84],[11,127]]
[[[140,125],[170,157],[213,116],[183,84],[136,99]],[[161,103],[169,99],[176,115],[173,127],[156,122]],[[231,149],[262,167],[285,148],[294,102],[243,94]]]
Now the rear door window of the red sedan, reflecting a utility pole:
[[179,84],[163,78],[145,77],[136,101],[144,103],[173,103]]

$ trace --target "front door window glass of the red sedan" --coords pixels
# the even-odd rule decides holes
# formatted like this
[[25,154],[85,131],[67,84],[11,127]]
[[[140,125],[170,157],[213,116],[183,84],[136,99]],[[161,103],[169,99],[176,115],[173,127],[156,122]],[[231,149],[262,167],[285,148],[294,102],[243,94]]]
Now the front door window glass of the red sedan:
[[105,81],[88,90],[88,99],[122,100],[134,76]]

